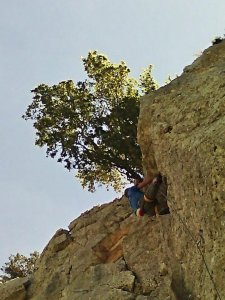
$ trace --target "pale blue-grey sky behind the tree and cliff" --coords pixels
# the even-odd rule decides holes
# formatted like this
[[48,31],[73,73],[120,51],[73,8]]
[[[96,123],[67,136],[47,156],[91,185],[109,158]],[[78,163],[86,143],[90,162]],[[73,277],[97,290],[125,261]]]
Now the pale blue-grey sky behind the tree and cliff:
[[34,145],[21,116],[40,83],[83,80],[90,50],[162,85],[225,34],[224,0],[0,0],[0,267],[43,247],[59,228],[117,195],[82,190]]

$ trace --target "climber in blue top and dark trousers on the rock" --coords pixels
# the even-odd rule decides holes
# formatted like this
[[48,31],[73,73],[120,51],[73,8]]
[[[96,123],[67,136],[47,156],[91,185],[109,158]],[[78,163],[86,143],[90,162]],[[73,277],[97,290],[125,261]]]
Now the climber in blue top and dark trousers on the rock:
[[[134,186],[127,188],[124,195],[128,198],[130,206],[137,216],[143,216],[145,213],[149,216],[159,216],[157,192],[162,183],[162,176],[147,176],[142,179],[135,179]],[[141,189],[147,186],[145,192]]]

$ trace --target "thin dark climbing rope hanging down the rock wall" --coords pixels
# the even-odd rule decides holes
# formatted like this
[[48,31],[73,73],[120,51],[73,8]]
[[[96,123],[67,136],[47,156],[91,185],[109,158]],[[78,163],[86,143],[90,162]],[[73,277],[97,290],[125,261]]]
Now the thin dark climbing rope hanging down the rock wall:
[[[160,193],[161,193],[161,195],[165,198],[165,200],[168,201],[167,196],[166,196],[164,193],[162,193],[162,192],[160,192]],[[195,245],[197,246],[197,249],[198,249],[198,251],[199,251],[199,253],[200,253],[201,257],[202,257],[203,263],[204,263],[204,265],[205,265],[205,267],[206,267],[206,271],[207,271],[207,273],[209,274],[209,278],[210,278],[210,280],[212,281],[212,284],[213,284],[213,286],[214,286],[214,289],[215,289],[215,291],[216,291],[216,294],[217,294],[219,300],[222,300],[222,298],[221,298],[221,296],[220,296],[220,293],[219,293],[219,290],[218,290],[218,288],[217,288],[217,286],[216,286],[216,283],[215,283],[215,281],[214,281],[214,279],[213,279],[212,273],[211,273],[210,270],[209,270],[209,267],[208,267],[208,265],[207,265],[205,256],[204,256],[204,254],[203,254],[203,252],[202,252],[202,249],[201,249],[200,246],[199,246],[198,241],[196,241],[194,235],[192,234],[192,232],[191,232],[190,229],[188,228],[188,226],[187,226],[187,224],[185,223],[185,221],[181,218],[181,216],[180,216],[180,214],[177,212],[177,210],[173,208],[174,202],[172,201],[172,199],[170,199],[170,201],[168,201],[168,202],[170,202],[170,203],[172,204],[172,210],[173,210],[173,211],[175,212],[175,214],[178,216],[180,222],[183,224],[184,228],[186,229],[186,231],[187,231],[188,234],[190,235],[191,239],[193,240],[193,242],[194,242]]]

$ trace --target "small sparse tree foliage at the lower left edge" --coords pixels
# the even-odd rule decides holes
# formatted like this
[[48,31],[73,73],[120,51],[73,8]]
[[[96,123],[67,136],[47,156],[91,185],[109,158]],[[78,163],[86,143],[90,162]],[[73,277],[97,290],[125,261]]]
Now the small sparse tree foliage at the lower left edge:
[[0,275],[0,282],[6,282],[13,278],[25,277],[32,274],[38,258],[39,253],[37,251],[31,253],[30,257],[19,253],[10,255],[9,261],[0,269],[3,272],[3,275]]

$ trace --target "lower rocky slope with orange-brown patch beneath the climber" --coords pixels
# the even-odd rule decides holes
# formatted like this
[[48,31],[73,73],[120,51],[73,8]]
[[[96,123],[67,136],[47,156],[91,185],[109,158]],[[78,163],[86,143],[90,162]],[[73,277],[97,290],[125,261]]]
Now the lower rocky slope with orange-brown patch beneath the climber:
[[168,228],[169,215],[137,218],[125,197],[95,207],[56,232],[18,298],[1,299],[175,299]]

